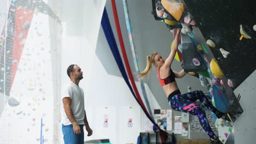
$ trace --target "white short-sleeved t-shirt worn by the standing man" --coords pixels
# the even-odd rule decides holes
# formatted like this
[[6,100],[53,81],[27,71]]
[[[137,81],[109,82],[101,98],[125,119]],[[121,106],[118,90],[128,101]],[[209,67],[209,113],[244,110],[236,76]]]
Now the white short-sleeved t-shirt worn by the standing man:
[[82,88],[80,88],[78,85],[76,85],[74,82],[68,83],[68,85],[65,87],[65,90],[63,91],[63,94],[61,95],[61,122],[63,125],[69,125],[72,124],[63,107],[62,99],[69,97],[71,98],[71,110],[73,112],[75,121],[77,121],[78,124],[84,124],[84,91]]

